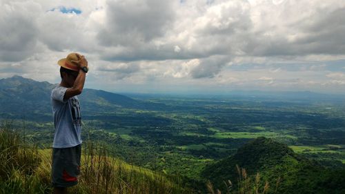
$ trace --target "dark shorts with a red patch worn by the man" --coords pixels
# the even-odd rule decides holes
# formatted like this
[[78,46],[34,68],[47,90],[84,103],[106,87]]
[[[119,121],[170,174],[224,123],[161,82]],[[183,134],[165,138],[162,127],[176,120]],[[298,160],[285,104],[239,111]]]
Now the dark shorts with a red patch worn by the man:
[[69,187],[78,184],[81,144],[71,148],[52,148],[52,186]]

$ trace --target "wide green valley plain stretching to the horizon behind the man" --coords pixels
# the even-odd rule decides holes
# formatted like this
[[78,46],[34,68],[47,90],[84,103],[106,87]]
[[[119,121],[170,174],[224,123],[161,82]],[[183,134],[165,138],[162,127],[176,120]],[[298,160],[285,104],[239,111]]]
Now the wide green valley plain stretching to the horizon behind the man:
[[[49,96],[51,87],[39,90]],[[20,87],[12,90],[24,93]],[[50,148],[54,127],[49,98],[14,95],[16,99],[1,98],[1,105],[6,103],[0,108],[1,122],[20,130],[26,141]],[[327,168],[344,168],[345,101],[303,95],[155,97],[86,90],[79,97],[82,138],[129,164],[178,175],[190,186],[204,184],[205,166],[234,155],[257,137],[286,144]],[[16,100],[27,103],[20,106]]]

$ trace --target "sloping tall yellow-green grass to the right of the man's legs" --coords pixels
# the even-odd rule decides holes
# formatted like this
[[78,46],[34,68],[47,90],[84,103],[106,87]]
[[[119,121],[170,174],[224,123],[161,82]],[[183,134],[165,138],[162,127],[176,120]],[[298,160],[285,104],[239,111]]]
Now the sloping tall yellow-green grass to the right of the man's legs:
[[83,153],[80,182],[73,193],[191,193],[162,173],[109,157],[103,146],[90,141],[83,144]]

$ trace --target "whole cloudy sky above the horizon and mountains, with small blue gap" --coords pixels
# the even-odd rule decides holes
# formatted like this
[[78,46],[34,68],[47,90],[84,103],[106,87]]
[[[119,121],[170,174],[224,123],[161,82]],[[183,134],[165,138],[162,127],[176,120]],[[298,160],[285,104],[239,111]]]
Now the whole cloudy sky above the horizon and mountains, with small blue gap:
[[57,84],[86,56],[86,88],[345,94],[345,1],[0,0],[0,79]]

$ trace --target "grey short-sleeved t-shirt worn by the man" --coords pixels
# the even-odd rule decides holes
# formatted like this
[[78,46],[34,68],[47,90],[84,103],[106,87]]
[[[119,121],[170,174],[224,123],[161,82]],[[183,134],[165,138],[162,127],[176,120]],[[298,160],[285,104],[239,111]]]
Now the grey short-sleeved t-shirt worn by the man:
[[55,126],[53,148],[70,148],[82,142],[79,99],[74,96],[63,101],[67,89],[57,85],[50,95]]

